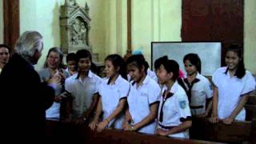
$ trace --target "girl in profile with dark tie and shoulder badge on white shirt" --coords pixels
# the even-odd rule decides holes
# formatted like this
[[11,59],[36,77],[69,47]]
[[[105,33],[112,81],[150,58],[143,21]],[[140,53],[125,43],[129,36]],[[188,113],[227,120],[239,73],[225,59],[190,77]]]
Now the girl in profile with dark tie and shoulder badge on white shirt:
[[162,97],[155,134],[189,138],[188,128],[192,125],[190,105],[186,91],[177,82],[178,70],[178,63],[174,60],[162,62],[157,70],[158,82],[162,85]]

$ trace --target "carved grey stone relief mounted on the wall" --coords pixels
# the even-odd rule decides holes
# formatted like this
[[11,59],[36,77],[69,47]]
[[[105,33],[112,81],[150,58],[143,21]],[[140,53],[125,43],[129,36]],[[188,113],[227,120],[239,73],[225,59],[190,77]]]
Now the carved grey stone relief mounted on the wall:
[[89,42],[89,7],[78,6],[75,0],[65,0],[60,10],[60,38],[64,54],[87,49],[92,51]]

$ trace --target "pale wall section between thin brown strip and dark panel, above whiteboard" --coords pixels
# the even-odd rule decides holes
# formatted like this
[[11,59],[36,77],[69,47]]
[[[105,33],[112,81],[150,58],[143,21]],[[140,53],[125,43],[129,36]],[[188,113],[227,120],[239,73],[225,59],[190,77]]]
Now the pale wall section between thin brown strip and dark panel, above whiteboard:
[[151,64],[151,42],[181,41],[181,0],[133,0],[132,48]]

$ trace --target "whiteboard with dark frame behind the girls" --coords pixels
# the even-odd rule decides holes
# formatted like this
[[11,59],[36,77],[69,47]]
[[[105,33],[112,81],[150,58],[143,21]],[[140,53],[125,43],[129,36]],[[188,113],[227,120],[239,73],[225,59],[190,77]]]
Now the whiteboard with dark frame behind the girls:
[[178,62],[180,69],[186,74],[183,58],[186,54],[198,54],[202,62],[202,74],[212,76],[221,66],[221,42],[151,42],[151,67],[154,61],[164,55]]

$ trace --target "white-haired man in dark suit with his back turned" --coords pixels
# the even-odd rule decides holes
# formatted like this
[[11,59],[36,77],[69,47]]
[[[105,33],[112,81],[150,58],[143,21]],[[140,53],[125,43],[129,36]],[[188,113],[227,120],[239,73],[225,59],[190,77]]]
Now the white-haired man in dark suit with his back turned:
[[46,109],[54,101],[55,78],[50,85],[41,83],[34,64],[43,49],[42,35],[26,31],[15,46],[15,53],[2,69],[1,94],[1,140],[8,143],[41,143],[44,140]]

